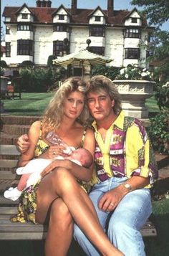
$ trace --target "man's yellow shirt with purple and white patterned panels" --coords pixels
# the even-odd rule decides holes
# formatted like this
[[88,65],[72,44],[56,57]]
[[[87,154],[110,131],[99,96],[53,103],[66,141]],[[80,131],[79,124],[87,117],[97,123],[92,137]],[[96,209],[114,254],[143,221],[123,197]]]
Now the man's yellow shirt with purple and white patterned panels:
[[92,185],[112,176],[150,176],[150,184],[158,178],[155,156],[148,135],[140,120],[125,117],[123,111],[107,130],[105,141],[95,128],[95,173]]

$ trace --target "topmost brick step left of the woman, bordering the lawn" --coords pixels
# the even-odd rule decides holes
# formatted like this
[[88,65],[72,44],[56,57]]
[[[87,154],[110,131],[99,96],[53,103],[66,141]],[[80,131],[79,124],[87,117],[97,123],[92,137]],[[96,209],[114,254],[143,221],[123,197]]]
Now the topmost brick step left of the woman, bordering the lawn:
[[31,125],[34,121],[39,120],[40,116],[19,116],[1,114],[2,124]]

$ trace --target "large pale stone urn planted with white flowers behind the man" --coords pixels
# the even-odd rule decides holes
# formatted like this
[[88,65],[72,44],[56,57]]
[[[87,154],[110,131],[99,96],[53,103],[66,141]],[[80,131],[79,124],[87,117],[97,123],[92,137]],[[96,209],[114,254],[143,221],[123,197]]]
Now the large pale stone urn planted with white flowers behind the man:
[[146,69],[128,65],[120,70],[113,80],[122,96],[122,109],[126,115],[148,118],[145,100],[153,95],[155,82]]

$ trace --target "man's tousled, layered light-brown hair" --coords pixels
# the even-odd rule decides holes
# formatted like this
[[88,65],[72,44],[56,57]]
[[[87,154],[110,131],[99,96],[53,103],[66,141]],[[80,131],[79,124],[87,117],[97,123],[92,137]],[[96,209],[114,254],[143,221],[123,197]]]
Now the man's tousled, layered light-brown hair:
[[95,75],[95,77],[92,77],[87,81],[87,88],[87,94],[105,91],[110,96],[111,100],[115,100],[115,105],[112,107],[115,115],[120,113],[122,110],[120,93],[118,93],[115,84],[110,78],[107,78],[104,75]]

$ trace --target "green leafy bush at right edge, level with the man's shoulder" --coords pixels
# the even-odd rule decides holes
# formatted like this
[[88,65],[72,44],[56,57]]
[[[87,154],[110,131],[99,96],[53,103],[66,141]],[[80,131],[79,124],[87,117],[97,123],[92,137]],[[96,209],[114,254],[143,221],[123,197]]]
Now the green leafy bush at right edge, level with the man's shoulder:
[[155,151],[169,153],[169,112],[164,111],[150,118],[148,135]]

